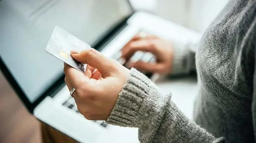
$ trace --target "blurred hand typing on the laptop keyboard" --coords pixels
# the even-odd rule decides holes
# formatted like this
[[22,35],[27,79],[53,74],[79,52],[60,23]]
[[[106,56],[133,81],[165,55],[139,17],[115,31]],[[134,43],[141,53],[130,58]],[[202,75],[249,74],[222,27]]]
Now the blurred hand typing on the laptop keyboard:
[[154,54],[156,63],[146,63],[143,61],[129,62],[128,67],[134,67],[138,70],[168,74],[172,69],[173,49],[172,44],[164,39],[154,35],[145,35],[141,37],[140,34],[135,35],[123,48],[122,58],[126,61],[137,51],[150,52]]

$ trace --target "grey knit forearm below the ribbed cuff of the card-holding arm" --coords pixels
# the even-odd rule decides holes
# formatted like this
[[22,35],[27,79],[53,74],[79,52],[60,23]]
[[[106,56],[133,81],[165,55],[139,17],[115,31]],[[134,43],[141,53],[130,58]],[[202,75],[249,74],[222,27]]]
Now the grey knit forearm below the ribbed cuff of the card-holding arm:
[[221,143],[223,138],[215,138],[205,129],[188,119],[172,101],[166,105],[166,112],[162,118],[156,136],[157,142],[161,137],[170,143]]

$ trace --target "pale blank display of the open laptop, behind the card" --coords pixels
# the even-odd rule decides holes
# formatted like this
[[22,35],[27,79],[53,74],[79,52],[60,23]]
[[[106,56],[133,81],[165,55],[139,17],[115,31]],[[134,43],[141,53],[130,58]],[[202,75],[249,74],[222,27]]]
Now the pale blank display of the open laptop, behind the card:
[[63,75],[45,52],[56,25],[93,44],[131,12],[127,0],[1,0],[1,59],[33,103]]

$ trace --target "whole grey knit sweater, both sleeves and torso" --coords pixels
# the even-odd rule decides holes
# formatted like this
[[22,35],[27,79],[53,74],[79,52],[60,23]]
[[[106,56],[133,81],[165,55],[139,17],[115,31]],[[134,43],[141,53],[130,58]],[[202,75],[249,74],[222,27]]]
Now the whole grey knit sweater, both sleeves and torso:
[[200,88],[194,121],[177,108],[171,94],[161,95],[146,76],[131,69],[107,123],[139,128],[143,143],[255,142],[255,43],[256,0],[231,0],[206,30],[196,56],[189,49],[175,50],[182,55],[174,58],[175,72],[189,72],[190,58],[196,57]]

